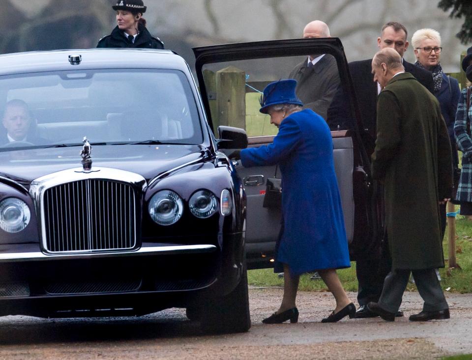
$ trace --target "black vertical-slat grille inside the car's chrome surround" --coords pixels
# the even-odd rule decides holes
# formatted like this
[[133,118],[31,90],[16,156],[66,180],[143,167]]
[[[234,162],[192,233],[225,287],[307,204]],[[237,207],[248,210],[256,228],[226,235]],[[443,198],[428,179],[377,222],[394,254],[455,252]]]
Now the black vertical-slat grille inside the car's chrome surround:
[[75,181],[47,189],[43,201],[43,240],[49,252],[132,249],[136,245],[136,197],[128,184]]

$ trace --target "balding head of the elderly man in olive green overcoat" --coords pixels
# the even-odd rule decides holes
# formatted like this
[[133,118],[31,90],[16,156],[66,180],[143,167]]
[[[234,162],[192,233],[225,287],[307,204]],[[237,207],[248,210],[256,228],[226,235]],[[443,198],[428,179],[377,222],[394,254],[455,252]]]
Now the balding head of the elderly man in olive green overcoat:
[[405,71],[402,57],[395,49],[384,48],[374,55],[372,59],[372,74],[374,81],[382,88],[399,72]]

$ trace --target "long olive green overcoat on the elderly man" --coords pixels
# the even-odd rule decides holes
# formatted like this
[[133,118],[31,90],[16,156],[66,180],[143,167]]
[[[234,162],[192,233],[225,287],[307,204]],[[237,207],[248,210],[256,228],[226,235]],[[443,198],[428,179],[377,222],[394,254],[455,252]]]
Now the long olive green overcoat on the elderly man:
[[384,183],[392,270],[444,267],[438,205],[452,194],[451,146],[438,100],[410,73],[379,94],[372,176]]

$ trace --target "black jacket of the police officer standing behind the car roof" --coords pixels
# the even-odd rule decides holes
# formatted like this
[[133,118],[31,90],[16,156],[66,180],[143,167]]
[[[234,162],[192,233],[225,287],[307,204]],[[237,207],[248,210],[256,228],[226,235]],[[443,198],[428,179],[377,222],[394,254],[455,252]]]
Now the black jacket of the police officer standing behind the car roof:
[[110,35],[98,41],[97,48],[164,49],[164,43],[158,38],[152,37],[144,25],[139,24],[138,28],[139,34],[134,43],[127,39],[124,31],[117,26]]

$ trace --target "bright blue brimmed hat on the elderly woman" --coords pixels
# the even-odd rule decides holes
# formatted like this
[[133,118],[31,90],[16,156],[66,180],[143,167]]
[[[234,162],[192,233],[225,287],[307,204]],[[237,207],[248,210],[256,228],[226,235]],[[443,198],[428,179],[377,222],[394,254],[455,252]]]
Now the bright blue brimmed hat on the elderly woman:
[[300,99],[295,94],[296,80],[287,79],[269,83],[264,89],[264,94],[259,102],[261,103],[261,111],[267,113],[267,108],[277,104],[296,104],[303,106]]

